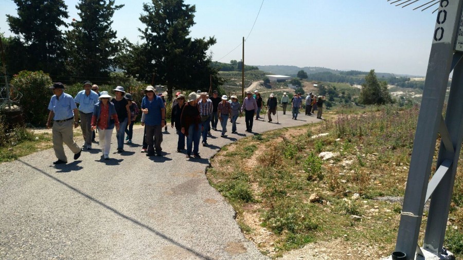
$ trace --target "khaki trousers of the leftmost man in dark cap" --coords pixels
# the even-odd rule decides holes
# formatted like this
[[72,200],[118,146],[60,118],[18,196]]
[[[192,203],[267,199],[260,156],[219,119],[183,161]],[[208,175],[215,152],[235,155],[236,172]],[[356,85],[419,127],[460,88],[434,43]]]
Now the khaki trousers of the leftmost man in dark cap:
[[73,123],[74,119],[67,120],[62,123],[58,123],[56,121],[53,122],[53,150],[55,150],[56,158],[65,162],[67,162],[67,157],[64,153],[63,142],[74,154],[80,152],[80,147],[74,141]]

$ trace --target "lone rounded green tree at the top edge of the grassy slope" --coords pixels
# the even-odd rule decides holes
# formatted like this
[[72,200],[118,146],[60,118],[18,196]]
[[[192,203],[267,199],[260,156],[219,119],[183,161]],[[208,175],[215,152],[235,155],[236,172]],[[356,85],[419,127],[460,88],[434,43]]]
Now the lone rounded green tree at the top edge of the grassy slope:
[[365,83],[362,84],[359,102],[365,105],[393,103],[393,99],[387,91],[387,82],[378,81],[374,69],[370,70],[368,75],[365,76]]

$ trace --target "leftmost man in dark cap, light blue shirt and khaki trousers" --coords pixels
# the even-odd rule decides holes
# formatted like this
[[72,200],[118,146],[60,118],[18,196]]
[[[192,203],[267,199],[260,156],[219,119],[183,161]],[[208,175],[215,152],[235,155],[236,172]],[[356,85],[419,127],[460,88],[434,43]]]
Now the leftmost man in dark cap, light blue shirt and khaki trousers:
[[58,158],[53,164],[67,163],[67,157],[64,153],[63,142],[74,153],[74,160],[80,157],[82,149],[74,141],[73,122],[74,128],[79,125],[79,114],[76,102],[69,94],[64,93],[64,85],[61,82],[54,83],[51,87],[53,96],[48,104],[47,128],[51,126],[53,120],[52,136],[53,136],[53,150],[55,156]]

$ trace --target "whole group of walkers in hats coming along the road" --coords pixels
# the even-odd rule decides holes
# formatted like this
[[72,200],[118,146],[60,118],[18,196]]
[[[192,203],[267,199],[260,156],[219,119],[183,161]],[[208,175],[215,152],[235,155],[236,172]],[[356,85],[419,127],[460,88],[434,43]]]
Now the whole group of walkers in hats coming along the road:
[[[165,128],[167,131],[166,101],[162,94],[156,95],[153,86],[147,86],[144,90],[145,97],[141,100],[140,107],[133,101],[132,95],[126,93],[121,86],[113,89],[114,97],[109,95],[108,91],[99,92],[98,86],[92,85],[90,81],[83,83],[84,89],[79,91],[75,98],[64,93],[62,83],[54,83],[50,88],[54,92],[54,96],[48,105],[50,113],[46,125],[49,128],[51,121],[54,122],[52,125],[53,146],[58,158],[54,164],[67,163],[63,142],[74,153],[75,160],[80,157],[82,148],[92,150],[95,132],[99,134],[99,145],[103,159],[108,160],[114,128],[116,128],[117,153],[123,153],[124,141],[129,144],[132,143],[133,125],[140,110],[141,125],[145,128],[141,152],[146,153],[147,156],[162,156],[162,129]],[[308,97],[311,97],[309,103],[312,104],[315,100],[313,95]],[[321,117],[324,98],[319,97],[318,100],[322,101],[316,102]],[[306,104],[307,102],[308,99],[306,99]],[[275,95],[271,94],[265,106],[268,110],[268,122],[272,122],[272,115],[276,114],[277,103]],[[286,114],[288,103],[289,98],[284,93],[281,99],[283,114]],[[301,104],[302,98],[299,93],[291,101],[293,119],[297,118]],[[178,135],[176,151],[181,153],[186,146],[187,158],[201,158],[199,154],[200,140],[202,139],[203,146],[208,146],[207,138],[211,136],[210,130],[218,131],[219,122],[221,137],[226,136],[228,121],[232,124],[231,133],[237,134],[236,121],[243,113],[246,132],[252,132],[254,116],[256,116],[256,120],[260,118],[259,114],[262,107],[263,102],[258,91],[255,91],[254,96],[252,92],[247,91],[243,104],[238,101],[236,96],[231,96],[230,100],[226,95],[219,97],[217,90],[212,92],[212,97],[209,97],[207,92],[200,90],[191,92],[188,97],[177,92],[171,109],[171,127],[175,127]],[[308,114],[310,109],[308,110],[307,107],[306,105],[306,115],[311,115]],[[73,126],[77,128],[79,124],[78,115],[84,138],[82,148],[76,144],[73,138]],[[127,137],[125,137],[126,134]]]

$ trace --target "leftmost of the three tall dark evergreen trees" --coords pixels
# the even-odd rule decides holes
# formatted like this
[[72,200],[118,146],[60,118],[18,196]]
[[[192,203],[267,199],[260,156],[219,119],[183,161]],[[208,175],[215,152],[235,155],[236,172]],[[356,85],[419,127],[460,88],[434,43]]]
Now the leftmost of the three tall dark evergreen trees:
[[11,72],[28,69],[44,70],[51,75],[63,73],[65,39],[59,27],[67,27],[63,18],[69,17],[64,0],[13,1],[17,6],[17,17],[7,15],[10,31],[16,34],[9,46],[17,55],[10,61],[14,68]]

